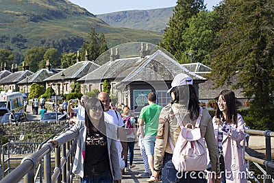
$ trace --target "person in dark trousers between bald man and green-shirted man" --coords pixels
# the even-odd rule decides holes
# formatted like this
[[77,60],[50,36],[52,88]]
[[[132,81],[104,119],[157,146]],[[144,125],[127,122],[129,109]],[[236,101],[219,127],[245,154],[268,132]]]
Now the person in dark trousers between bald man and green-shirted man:
[[[136,167],[136,164],[133,164],[134,159],[134,145],[137,143],[136,136],[136,125],[135,119],[130,115],[129,107],[125,106],[123,108],[123,123],[125,124],[125,133],[127,134],[127,149],[129,151],[129,169]],[[125,160],[125,169],[128,170],[127,167],[127,159]]]

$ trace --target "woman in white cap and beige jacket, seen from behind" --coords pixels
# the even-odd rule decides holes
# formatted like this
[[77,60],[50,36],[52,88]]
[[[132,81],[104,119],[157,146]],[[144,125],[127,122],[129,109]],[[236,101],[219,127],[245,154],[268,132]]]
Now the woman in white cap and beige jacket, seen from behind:
[[[154,149],[154,178],[159,181],[160,172],[162,171],[163,183],[206,182],[206,176],[203,176],[206,174],[205,171],[178,172],[172,160],[173,147],[175,147],[178,136],[182,131],[180,123],[184,126],[188,123],[195,126],[200,116],[199,101],[195,88],[192,86],[192,78],[183,73],[176,75],[167,93],[171,94],[173,101],[163,108],[159,117],[158,133]],[[173,111],[173,108],[178,113]],[[179,114],[179,117],[175,117],[175,113]],[[182,121],[178,121],[177,119],[179,118]],[[199,128],[201,137],[206,140],[212,171],[216,175],[219,174],[219,154],[214,138],[212,119],[206,108],[202,108],[200,118]],[[214,177],[213,181],[215,182],[215,180],[216,177]]]

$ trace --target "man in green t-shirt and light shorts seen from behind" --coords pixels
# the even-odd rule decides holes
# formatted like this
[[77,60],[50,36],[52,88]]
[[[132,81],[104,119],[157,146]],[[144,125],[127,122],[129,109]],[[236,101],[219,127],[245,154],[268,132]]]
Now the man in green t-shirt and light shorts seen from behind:
[[142,143],[144,143],[147,158],[149,160],[149,168],[151,170],[151,178],[147,182],[155,182],[153,177],[153,162],[154,162],[154,146],[156,134],[158,130],[158,121],[162,106],[156,104],[155,93],[149,93],[147,96],[148,106],[142,108],[138,123],[140,126],[140,134],[142,136]]

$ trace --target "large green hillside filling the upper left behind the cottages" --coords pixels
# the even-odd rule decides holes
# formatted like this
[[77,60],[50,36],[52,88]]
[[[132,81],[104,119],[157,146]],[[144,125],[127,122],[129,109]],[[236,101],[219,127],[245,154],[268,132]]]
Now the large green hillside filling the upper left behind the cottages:
[[67,0],[0,0],[0,4],[0,48],[13,51],[17,63],[32,47],[55,47],[60,53],[76,51],[91,27],[105,34],[109,47],[133,41],[158,44],[162,40],[157,32],[112,27]]

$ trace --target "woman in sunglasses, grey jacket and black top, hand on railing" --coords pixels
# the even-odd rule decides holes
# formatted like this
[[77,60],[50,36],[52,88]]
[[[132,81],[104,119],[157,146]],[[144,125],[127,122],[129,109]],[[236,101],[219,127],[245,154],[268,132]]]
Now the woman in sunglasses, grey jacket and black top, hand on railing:
[[121,180],[114,125],[105,122],[103,104],[99,99],[86,99],[85,111],[85,121],[79,121],[48,143],[60,147],[73,138],[78,139],[72,171],[79,175],[82,183]]

